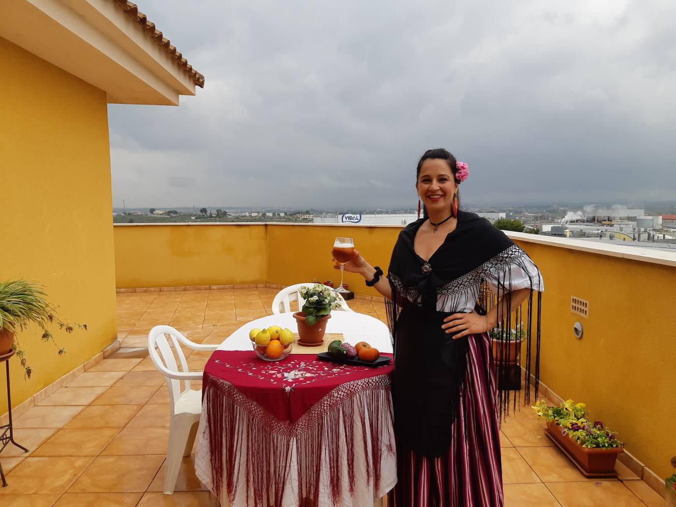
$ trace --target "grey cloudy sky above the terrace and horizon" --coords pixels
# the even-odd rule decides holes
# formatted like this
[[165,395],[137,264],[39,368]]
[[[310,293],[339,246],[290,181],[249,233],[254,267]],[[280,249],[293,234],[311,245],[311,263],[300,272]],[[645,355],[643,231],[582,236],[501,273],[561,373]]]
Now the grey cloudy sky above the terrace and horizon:
[[673,0],[138,3],[206,85],[109,106],[116,207],[676,198]]

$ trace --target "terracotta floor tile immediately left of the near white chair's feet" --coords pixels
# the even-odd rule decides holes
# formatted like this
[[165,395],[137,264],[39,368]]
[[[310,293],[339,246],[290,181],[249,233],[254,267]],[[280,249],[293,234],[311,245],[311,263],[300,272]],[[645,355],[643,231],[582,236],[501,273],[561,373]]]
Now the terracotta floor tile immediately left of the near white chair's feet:
[[145,491],[164,456],[98,456],[68,493],[133,493]]

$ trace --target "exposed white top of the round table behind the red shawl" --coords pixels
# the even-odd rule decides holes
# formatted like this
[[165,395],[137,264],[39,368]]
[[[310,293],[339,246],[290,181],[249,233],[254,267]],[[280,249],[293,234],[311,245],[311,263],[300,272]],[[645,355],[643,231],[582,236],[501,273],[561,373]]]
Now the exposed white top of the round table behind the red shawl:
[[[282,329],[289,328],[294,333],[298,331],[297,320],[293,318],[293,312],[268,315],[244,324],[221,343],[218,350],[251,350],[249,331],[256,327],[263,329],[275,325]],[[331,312],[331,318],[327,320],[326,332],[343,333],[345,341],[352,345],[366,341],[380,352],[385,352],[385,354],[392,352],[392,339],[387,324],[370,315],[357,312]]]

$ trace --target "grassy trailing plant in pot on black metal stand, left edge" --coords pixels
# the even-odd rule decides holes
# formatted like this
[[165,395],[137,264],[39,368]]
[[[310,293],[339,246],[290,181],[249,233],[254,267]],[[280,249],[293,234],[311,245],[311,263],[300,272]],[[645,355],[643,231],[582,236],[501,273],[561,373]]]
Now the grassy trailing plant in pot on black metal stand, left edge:
[[[28,379],[33,368],[26,361],[26,353],[18,333],[30,327],[30,324],[42,329],[42,341],[51,341],[57,347],[59,356],[66,353],[66,349],[57,345],[47,328],[49,324],[55,324],[66,333],[72,333],[75,328],[57,316],[55,308],[47,301],[47,295],[42,288],[25,280],[0,282],[0,356],[9,354],[11,349],[14,349]],[[76,326],[87,331],[87,324]]]

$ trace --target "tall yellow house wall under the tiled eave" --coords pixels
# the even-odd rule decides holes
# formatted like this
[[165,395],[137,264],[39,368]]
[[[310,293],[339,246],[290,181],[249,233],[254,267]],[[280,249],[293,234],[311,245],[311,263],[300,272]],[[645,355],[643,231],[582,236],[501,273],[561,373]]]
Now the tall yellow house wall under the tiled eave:
[[110,148],[105,92],[2,38],[0,60],[0,279],[45,285],[62,318],[89,327],[54,331],[60,358],[22,333],[35,372],[25,381],[11,361],[16,406],[116,338]]

